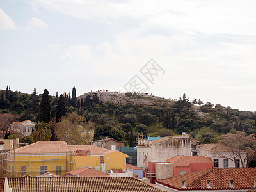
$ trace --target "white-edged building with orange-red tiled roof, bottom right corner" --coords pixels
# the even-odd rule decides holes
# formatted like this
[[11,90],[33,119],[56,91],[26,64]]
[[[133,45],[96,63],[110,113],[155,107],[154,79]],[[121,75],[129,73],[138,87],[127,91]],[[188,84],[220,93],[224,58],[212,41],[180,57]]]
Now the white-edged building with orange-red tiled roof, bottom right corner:
[[248,191],[256,189],[256,168],[211,168],[156,180],[163,191]]

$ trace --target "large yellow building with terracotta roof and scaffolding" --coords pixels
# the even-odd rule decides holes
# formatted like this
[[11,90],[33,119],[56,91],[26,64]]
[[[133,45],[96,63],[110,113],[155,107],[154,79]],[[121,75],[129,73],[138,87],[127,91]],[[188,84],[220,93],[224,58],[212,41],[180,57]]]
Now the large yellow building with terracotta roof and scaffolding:
[[83,166],[104,172],[126,170],[127,157],[122,152],[92,145],[68,146],[64,141],[38,141],[7,152],[3,160],[7,176],[37,176],[45,172],[65,175]]

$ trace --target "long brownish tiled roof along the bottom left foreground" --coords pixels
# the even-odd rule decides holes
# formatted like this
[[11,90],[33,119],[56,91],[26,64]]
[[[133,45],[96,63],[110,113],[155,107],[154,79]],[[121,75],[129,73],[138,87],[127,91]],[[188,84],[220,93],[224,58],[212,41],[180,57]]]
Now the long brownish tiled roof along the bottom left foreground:
[[163,192],[134,177],[9,177],[12,192]]

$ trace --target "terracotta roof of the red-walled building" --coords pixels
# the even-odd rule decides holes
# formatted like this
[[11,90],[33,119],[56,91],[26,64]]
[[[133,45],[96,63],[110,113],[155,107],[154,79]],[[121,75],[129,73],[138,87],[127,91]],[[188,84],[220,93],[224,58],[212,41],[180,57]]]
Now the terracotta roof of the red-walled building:
[[205,156],[175,156],[166,161],[175,163],[175,166],[190,166],[189,163],[213,163],[210,157]]

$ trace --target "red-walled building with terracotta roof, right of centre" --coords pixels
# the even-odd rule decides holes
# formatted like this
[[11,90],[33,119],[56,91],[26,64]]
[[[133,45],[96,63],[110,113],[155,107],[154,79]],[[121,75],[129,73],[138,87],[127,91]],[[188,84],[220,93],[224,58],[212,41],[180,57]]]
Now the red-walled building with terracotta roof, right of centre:
[[212,159],[205,156],[175,156],[166,161],[173,164],[173,177],[214,167]]

